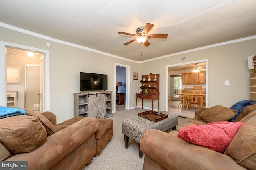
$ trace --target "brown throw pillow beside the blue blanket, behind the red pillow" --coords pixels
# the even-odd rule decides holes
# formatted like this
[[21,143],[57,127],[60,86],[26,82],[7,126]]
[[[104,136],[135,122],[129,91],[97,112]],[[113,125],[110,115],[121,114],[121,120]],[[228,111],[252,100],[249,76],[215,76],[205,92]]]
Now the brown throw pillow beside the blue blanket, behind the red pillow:
[[216,105],[206,109],[198,114],[198,117],[206,121],[206,123],[228,121],[236,115],[234,109],[229,109],[221,105]]

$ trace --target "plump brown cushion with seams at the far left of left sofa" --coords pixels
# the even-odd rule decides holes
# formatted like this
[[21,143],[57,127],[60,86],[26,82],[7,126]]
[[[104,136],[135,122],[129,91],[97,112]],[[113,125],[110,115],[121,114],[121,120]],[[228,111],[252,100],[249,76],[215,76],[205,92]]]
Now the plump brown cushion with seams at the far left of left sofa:
[[13,154],[31,152],[46,142],[44,126],[36,117],[18,115],[0,119],[0,142]]

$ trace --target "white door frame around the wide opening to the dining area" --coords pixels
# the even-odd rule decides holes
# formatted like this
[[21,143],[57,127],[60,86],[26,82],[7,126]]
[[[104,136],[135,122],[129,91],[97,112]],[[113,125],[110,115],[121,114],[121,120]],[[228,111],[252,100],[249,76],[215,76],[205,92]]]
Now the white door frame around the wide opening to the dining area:
[[168,111],[168,67],[176,67],[176,66],[180,66],[180,65],[187,65],[187,64],[194,64],[194,63],[204,63],[205,62],[205,100],[206,100],[206,107],[208,107],[208,59],[203,59],[203,60],[198,60],[198,61],[190,61],[190,62],[186,62],[186,63],[178,63],[178,64],[172,64],[172,65],[166,65],[165,66],[165,110]]

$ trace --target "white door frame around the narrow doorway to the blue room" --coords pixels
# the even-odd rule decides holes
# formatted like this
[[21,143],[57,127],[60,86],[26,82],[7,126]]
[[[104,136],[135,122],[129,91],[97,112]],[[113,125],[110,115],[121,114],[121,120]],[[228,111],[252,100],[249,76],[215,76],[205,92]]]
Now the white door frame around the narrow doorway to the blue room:
[[126,68],[126,88],[125,88],[125,109],[129,110],[129,106],[130,106],[130,65],[123,65],[123,64],[118,64],[115,63],[115,68],[114,68],[114,97],[115,99],[112,100],[114,101],[114,111],[113,113],[116,112],[116,66],[118,67],[125,67]]

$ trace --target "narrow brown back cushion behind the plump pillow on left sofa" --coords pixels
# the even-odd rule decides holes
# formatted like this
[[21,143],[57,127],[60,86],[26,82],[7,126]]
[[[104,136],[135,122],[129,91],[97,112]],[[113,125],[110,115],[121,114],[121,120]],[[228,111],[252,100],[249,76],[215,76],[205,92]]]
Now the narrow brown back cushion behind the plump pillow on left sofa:
[[46,129],[47,136],[50,136],[57,132],[54,125],[46,117],[44,117],[43,115],[41,115],[36,111],[32,111],[31,109],[24,109],[24,110],[25,110],[25,115],[37,117],[41,121],[41,123],[44,125],[44,128]]

